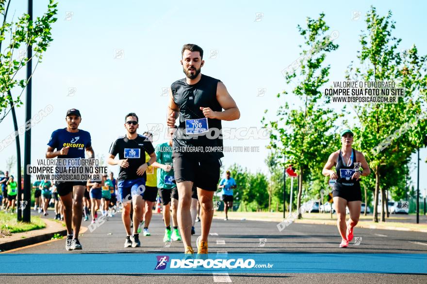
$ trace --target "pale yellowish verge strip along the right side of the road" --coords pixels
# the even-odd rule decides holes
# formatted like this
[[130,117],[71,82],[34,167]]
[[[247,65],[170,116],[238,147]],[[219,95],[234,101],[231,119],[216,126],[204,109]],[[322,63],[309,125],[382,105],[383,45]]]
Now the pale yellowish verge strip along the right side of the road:
[[[265,222],[281,222],[283,221],[283,212],[230,212],[229,220],[251,220],[251,221],[265,221]],[[289,216],[289,212],[286,212],[286,218]],[[224,219],[224,211],[215,211],[213,218]],[[420,224],[415,224],[415,216],[413,215],[390,215],[386,218],[386,222],[375,223],[372,221],[372,214],[363,216],[361,214],[358,227],[368,229],[384,229],[384,230],[399,230],[399,231],[415,231],[427,233],[427,216],[420,215]],[[326,224],[334,225],[337,224],[337,215],[332,215],[333,219],[330,219],[330,213],[304,213],[302,219],[295,220],[295,223],[300,224]],[[347,220],[349,215],[347,214]],[[380,216],[378,215],[378,219]],[[243,220],[242,220],[243,221]]]

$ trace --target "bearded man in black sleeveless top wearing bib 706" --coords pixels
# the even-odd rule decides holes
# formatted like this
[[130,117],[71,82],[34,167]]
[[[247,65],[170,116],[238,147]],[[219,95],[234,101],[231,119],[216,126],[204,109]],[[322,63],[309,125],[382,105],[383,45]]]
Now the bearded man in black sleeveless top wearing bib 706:
[[[181,55],[186,78],[171,85],[167,108],[167,125],[174,135],[173,166],[180,196],[178,224],[185,253],[194,254],[190,214],[194,183],[201,205],[201,236],[197,238],[197,253],[207,254],[213,218],[212,198],[219,181],[220,158],[224,157],[221,120],[237,120],[240,111],[220,80],[200,73],[204,64],[203,49],[197,45],[184,45]],[[178,117],[179,127],[176,129]]]

